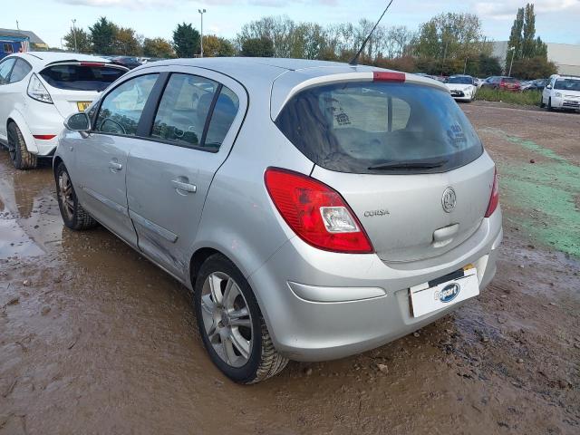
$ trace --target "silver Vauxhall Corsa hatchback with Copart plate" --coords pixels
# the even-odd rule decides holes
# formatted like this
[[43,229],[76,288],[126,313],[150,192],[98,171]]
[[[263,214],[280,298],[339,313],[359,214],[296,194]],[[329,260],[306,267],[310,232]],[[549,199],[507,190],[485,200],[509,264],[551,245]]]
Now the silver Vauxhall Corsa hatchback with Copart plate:
[[391,342],[496,272],[495,165],[442,83],[171,60],[123,75],[65,126],[65,225],[99,222],[188,286],[236,382]]

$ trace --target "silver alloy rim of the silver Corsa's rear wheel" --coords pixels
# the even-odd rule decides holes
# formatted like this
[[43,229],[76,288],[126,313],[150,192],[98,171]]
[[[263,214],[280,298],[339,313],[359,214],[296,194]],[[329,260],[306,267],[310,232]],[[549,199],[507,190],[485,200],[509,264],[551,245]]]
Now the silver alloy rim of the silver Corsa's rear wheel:
[[219,358],[232,367],[245,365],[255,332],[246,298],[231,276],[208,275],[201,290],[201,313],[209,343]]

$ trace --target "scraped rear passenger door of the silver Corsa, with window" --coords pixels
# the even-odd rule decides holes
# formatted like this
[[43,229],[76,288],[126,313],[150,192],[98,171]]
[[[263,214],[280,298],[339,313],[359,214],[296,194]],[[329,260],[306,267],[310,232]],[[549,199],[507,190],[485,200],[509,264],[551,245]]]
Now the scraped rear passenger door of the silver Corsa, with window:
[[247,99],[239,83],[206,70],[173,69],[165,80],[150,113],[151,140],[131,148],[127,198],[140,249],[187,279],[209,185],[227,158]]

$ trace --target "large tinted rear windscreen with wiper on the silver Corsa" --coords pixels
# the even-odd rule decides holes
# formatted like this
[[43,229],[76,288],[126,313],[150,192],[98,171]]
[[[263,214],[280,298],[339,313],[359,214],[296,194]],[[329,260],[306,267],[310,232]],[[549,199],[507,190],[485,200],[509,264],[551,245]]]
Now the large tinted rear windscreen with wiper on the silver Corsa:
[[310,88],[292,97],[275,123],[308,159],[340,172],[442,172],[483,152],[449,92],[419,84]]

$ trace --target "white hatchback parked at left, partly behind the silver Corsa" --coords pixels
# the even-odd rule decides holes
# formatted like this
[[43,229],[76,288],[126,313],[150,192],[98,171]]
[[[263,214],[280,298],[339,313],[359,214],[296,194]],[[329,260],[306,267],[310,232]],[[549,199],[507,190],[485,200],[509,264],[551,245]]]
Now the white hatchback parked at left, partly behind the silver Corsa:
[[129,71],[78,53],[16,53],[0,62],[0,144],[16,169],[52,156],[63,121]]

